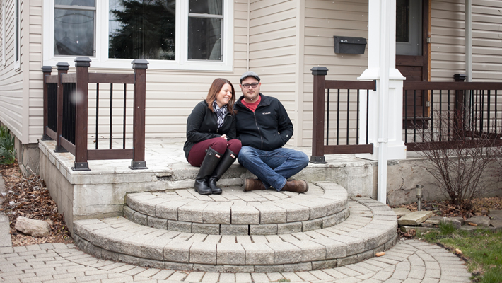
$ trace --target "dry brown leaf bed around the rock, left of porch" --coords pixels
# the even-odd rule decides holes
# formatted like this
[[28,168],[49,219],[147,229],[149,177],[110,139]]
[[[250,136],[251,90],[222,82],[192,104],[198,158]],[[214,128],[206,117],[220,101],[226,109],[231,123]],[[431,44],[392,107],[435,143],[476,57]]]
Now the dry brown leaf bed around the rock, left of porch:
[[[57,204],[49,195],[40,176],[24,177],[18,164],[0,166],[5,182],[6,195],[2,209],[11,223],[13,246],[27,246],[37,243],[73,243],[64,223],[63,214],[57,213]],[[48,237],[35,238],[14,229],[18,216],[45,220],[51,226]]]

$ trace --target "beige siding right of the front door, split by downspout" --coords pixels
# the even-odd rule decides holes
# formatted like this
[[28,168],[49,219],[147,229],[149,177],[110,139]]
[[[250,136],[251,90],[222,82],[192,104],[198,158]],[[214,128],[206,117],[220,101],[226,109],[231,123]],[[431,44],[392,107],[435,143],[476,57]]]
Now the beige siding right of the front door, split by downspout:
[[[432,1],[431,81],[465,74],[465,1]],[[502,81],[502,1],[472,1],[472,81]]]

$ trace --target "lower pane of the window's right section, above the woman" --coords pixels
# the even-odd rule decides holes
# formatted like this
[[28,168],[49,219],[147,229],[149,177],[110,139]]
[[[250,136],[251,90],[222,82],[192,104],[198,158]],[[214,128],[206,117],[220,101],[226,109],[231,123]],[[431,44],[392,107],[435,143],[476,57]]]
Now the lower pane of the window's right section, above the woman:
[[188,59],[221,61],[221,18],[188,18]]

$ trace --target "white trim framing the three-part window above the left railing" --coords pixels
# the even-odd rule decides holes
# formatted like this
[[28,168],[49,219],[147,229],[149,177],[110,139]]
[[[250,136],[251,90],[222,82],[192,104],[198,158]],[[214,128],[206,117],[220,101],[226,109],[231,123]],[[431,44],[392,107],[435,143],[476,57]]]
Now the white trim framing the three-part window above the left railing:
[[[58,62],[67,62],[74,66],[76,57],[54,56],[54,0],[44,0],[43,10],[43,65],[55,66]],[[233,0],[223,0],[223,60],[188,60],[188,4],[186,0],[176,0],[175,59],[151,60],[148,69],[197,70],[197,71],[232,71],[233,70]],[[132,59],[108,58],[108,1],[96,1],[95,46],[96,56],[91,58],[91,67],[131,69]]]

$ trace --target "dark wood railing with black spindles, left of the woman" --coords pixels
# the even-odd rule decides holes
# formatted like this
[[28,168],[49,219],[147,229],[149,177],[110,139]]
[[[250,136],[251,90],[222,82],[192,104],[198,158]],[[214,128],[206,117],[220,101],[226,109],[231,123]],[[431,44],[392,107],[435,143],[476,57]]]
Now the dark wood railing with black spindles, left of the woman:
[[[74,171],[90,170],[88,160],[132,159],[132,169],[145,169],[145,108],[146,108],[146,60],[132,62],[134,74],[98,74],[89,73],[91,59],[78,57],[75,59],[76,73],[67,74],[69,64],[58,63],[58,74],[51,76],[52,67],[43,67],[44,71],[44,139],[57,141],[54,151],[69,151],[75,156]],[[110,85],[110,110],[101,115],[109,119],[109,148],[100,149],[100,83]],[[88,100],[89,85],[95,85],[96,115],[95,115],[95,149],[88,149]],[[113,116],[113,85],[122,84],[122,149],[112,149],[112,133],[114,129]],[[132,145],[126,148],[126,118],[127,118],[127,84],[134,86],[132,90],[131,118]],[[57,102],[54,106],[54,85],[57,86]],[[49,93],[50,91],[50,93]],[[52,100],[50,100],[50,99]],[[55,111],[54,111],[55,109]],[[54,127],[54,112],[56,126]],[[91,117],[92,118],[92,117]],[[51,126],[49,127],[49,121]]]

